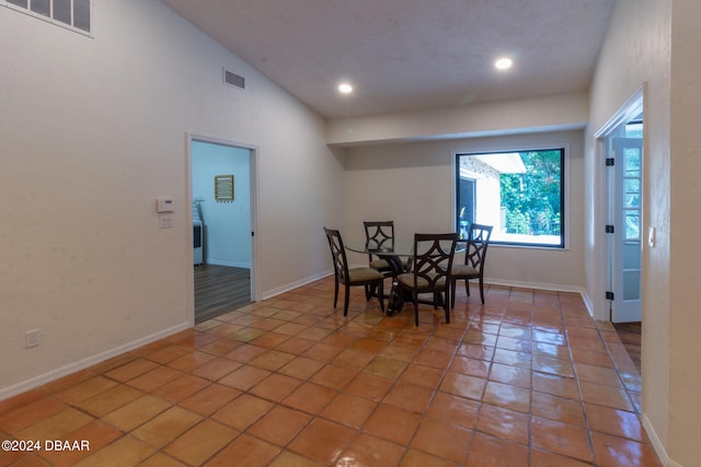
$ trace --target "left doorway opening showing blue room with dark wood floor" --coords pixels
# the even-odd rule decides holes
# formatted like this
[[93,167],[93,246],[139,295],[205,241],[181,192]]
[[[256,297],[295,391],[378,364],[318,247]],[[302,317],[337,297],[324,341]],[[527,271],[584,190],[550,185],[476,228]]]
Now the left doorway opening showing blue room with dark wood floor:
[[192,137],[195,323],[255,300],[255,149]]

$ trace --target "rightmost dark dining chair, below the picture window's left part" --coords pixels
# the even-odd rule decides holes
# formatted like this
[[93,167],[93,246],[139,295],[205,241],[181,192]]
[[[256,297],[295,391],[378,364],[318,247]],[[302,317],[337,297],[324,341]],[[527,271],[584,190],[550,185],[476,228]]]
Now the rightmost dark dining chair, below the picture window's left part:
[[456,283],[459,280],[464,280],[464,289],[468,292],[468,296],[470,296],[470,279],[480,280],[480,297],[482,299],[482,304],[484,304],[484,265],[492,229],[492,225],[470,224],[464,262],[461,265],[453,264],[450,273],[451,306],[456,306]]

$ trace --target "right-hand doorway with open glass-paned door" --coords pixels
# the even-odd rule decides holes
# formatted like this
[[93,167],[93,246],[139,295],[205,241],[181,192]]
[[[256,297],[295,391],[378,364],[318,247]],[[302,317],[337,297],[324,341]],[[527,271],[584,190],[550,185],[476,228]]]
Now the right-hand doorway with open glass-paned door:
[[607,179],[606,297],[614,324],[642,323],[643,131],[639,92],[597,137]]

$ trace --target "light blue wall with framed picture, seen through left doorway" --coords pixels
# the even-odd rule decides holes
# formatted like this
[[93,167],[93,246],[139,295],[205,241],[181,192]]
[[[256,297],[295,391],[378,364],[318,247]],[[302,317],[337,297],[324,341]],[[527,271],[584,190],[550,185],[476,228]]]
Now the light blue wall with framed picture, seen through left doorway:
[[[251,151],[192,143],[193,199],[200,199],[205,262],[251,267]],[[233,201],[215,200],[215,176],[233,175]]]

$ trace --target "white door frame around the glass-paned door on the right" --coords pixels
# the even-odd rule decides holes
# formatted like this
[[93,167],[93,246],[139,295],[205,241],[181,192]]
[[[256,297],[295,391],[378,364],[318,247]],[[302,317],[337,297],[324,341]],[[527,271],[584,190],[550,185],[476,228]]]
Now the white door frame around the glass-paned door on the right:
[[[625,103],[623,103],[623,105],[621,105],[619,107],[619,109],[613,114],[613,116],[611,116],[611,118],[597,131],[594,133],[594,138],[596,139],[596,164],[601,164],[604,165],[606,162],[606,157],[609,154],[609,139],[613,137],[613,133],[617,129],[619,129],[621,127],[621,125],[633,120],[635,117],[640,116],[641,114],[643,115],[643,120],[646,119],[645,116],[645,112],[644,112],[644,104],[645,104],[645,89],[646,86],[643,85],[641,87],[639,87],[635,93],[633,93],[633,95],[631,95]],[[641,161],[641,171],[643,171],[643,178],[641,180],[642,183],[642,197],[641,197],[641,221],[640,221],[640,229],[641,229],[641,235],[643,236],[643,232],[645,232],[644,225],[645,225],[645,219],[646,219],[646,213],[645,213],[645,159],[644,159],[644,154],[646,153],[646,147],[647,147],[647,132],[643,131],[643,159]],[[609,290],[609,278],[610,275],[612,273],[611,269],[610,269],[610,247],[609,247],[609,242],[610,242],[610,237],[608,233],[606,233],[604,231],[604,227],[606,224],[608,224],[608,217],[609,217],[609,202],[610,202],[610,198],[611,196],[613,196],[612,192],[610,192],[610,187],[609,187],[609,183],[608,183],[608,177],[609,174],[607,173],[607,171],[600,171],[598,172],[599,174],[601,174],[601,187],[602,189],[602,196],[599,198],[599,212],[606,213],[607,219],[601,221],[601,231],[600,232],[596,232],[596,236],[598,238],[601,238],[601,245],[602,248],[600,248],[600,255],[602,258],[602,262],[601,265],[604,266],[604,268],[606,269],[606,280],[607,283],[604,284],[604,288],[601,290],[601,293],[606,292]],[[619,226],[619,230],[622,229],[622,226]],[[641,247],[641,275],[644,273],[644,255],[642,252],[642,247]],[[641,279],[641,299],[643,296],[643,291],[642,291],[642,279]],[[609,322],[612,322],[612,311],[611,311],[611,303],[609,300],[607,300],[606,297],[601,296],[598,301],[599,303],[602,303],[606,312],[605,315],[600,315],[600,316],[606,316],[607,319]],[[642,316],[642,300],[641,300],[641,316]],[[642,319],[642,318],[641,318]]]

